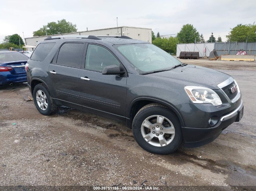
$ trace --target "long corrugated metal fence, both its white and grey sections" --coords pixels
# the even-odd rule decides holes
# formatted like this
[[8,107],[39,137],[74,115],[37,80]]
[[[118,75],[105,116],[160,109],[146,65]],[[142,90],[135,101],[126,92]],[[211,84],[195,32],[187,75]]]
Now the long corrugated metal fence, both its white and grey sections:
[[216,50],[218,55],[236,54],[240,49],[244,49],[248,55],[256,55],[256,42],[223,42],[223,43],[191,43],[177,44],[176,56],[180,56],[180,52],[199,52],[199,57],[204,57],[204,48],[206,47],[206,56],[212,50]]

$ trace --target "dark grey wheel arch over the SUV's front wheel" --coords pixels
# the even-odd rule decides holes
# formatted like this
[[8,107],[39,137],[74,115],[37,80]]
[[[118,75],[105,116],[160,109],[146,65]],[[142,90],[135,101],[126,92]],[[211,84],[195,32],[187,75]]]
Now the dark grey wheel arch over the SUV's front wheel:
[[127,126],[129,128],[131,128],[133,118],[136,115],[136,113],[138,112],[138,110],[140,110],[142,107],[144,107],[145,105],[147,105],[149,103],[160,103],[162,105],[169,107],[178,117],[178,119],[181,123],[181,126],[183,126],[183,127],[185,126],[184,120],[183,120],[180,112],[171,103],[168,103],[164,100],[160,100],[160,99],[153,98],[153,97],[137,97],[134,100],[132,100],[132,102],[130,103],[129,109],[128,109],[127,117],[129,118],[129,120],[127,122]]

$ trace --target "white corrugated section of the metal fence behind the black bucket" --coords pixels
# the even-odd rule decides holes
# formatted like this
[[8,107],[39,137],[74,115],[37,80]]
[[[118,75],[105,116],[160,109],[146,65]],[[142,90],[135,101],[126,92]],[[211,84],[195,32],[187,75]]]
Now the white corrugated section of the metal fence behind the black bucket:
[[204,48],[206,48],[206,56],[209,56],[214,49],[214,43],[177,44],[176,56],[179,57],[181,52],[199,52],[199,57],[204,57]]

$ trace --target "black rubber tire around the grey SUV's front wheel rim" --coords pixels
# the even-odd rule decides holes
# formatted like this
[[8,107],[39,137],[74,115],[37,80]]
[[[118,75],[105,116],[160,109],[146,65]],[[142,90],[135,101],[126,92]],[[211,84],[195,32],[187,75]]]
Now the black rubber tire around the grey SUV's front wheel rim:
[[[175,136],[173,140],[166,146],[158,147],[151,145],[148,142],[146,142],[146,140],[143,138],[141,134],[141,125],[143,121],[149,116],[153,115],[165,116],[167,119],[171,121],[175,128]],[[176,151],[183,142],[181,124],[179,122],[178,117],[169,107],[166,107],[159,103],[148,104],[138,111],[138,113],[135,115],[133,119],[132,132],[136,142],[138,143],[138,145],[141,146],[141,148],[156,154],[170,154]]]

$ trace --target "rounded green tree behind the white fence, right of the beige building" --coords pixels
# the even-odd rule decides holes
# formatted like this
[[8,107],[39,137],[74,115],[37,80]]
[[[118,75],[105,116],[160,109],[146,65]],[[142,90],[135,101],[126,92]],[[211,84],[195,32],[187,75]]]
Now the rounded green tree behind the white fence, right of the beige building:
[[200,35],[193,24],[185,24],[182,26],[180,32],[177,33],[179,43],[194,43],[200,42]]

